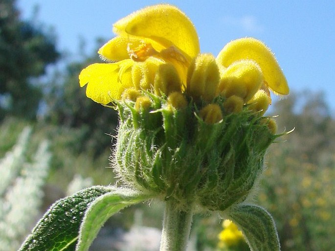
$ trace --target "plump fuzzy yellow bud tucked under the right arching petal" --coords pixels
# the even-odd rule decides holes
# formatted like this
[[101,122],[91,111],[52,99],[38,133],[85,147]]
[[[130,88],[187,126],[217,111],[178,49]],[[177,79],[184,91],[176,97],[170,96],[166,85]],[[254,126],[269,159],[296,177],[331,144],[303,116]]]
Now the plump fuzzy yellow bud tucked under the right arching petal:
[[236,95],[248,101],[263,84],[261,68],[252,60],[241,60],[230,65],[224,72],[218,92],[226,97]]

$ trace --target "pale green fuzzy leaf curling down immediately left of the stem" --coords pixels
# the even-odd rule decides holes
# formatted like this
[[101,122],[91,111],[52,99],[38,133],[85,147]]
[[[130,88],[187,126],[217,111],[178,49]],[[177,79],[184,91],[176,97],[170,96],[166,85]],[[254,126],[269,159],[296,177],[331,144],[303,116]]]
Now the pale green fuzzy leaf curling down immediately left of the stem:
[[76,251],[88,251],[100,228],[113,214],[126,206],[146,201],[151,197],[131,189],[117,188],[97,198],[89,206],[83,219]]

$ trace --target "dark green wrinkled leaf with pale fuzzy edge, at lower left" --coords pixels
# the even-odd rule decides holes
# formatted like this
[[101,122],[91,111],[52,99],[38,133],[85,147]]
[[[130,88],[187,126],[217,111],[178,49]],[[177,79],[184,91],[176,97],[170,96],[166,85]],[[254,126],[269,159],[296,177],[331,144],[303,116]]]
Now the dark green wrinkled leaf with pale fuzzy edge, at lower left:
[[85,211],[95,199],[113,190],[112,186],[92,186],[55,202],[19,251],[74,251]]

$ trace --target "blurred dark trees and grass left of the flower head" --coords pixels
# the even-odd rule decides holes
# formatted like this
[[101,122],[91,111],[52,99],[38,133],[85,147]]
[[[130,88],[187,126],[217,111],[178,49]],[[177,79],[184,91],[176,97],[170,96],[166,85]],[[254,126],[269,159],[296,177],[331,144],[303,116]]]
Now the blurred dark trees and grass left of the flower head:
[[[33,18],[22,21],[15,0],[0,0],[0,157],[27,124],[33,128],[28,155],[38,142],[50,141],[47,206],[65,196],[76,174],[91,177],[94,184],[113,183],[112,170],[106,167],[117,114],[89,100],[79,87],[81,69],[100,61],[96,52],[83,53],[77,61],[63,57],[64,68],[44,75],[60,53],[54,34],[36,21],[36,13]],[[97,46],[102,43],[97,40]],[[34,78],[40,76],[37,84]]]

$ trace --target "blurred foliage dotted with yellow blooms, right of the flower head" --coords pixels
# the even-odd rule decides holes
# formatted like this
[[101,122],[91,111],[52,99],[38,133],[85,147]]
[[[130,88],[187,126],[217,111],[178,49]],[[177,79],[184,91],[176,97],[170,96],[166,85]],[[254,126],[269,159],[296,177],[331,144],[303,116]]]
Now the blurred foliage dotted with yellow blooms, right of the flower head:
[[[280,127],[295,128],[273,144],[259,201],[277,223],[283,251],[335,246],[335,121],[322,93],[278,102]],[[279,139],[280,140],[280,139]]]

